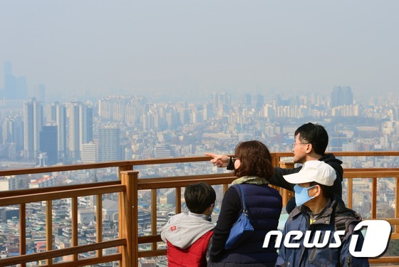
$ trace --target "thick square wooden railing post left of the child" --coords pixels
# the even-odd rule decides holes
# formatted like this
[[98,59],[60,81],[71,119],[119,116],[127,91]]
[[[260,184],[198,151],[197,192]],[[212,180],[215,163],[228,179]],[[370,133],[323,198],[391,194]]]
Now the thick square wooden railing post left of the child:
[[[120,193],[119,235],[126,239],[122,251],[122,266],[138,266],[138,172],[120,173],[126,191]],[[123,222],[123,223],[121,223]]]

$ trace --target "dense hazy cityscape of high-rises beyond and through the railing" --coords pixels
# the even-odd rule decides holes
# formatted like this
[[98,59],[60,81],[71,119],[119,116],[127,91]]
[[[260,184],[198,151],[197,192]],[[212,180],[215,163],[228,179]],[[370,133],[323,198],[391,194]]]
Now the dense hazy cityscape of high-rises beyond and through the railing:
[[[328,152],[399,150],[399,94],[377,96],[361,103],[353,98],[349,85],[337,85],[329,95],[303,93],[290,98],[243,93],[239,101],[235,101],[228,92],[214,92],[204,103],[154,101],[144,95],[109,95],[82,102],[48,103],[45,85],[38,85],[35,92],[29,94],[26,77],[13,75],[11,62],[6,61],[0,95],[1,169],[192,157],[203,156],[205,152],[232,154],[235,145],[244,140],[260,140],[271,152],[289,152],[294,131],[309,121],[326,127],[330,137]],[[398,163],[393,157],[343,159],[344,168],[394,167]],[[146,178],[171,173],[179,176],[224,172],[206,162],[135,169],[140,177]],[[113,168],[9,176],[0,177],[0,191],[115,179],[118,174]],[[394,180],[378,179],[378,188],[378,216],[394,217]],[[215,189],[216,216],[223,196],[221,187]],[[345,195],[345,184],[343,189]],[[354,179],[353,192],[353,209],[368,218],[371,183],[368,179]],[[139,234],[146,235],[150,234],[151,227],[150,192],[139,194]],[[162,189],[158,198],[157,229],[160,229],[175,214],[175,191]],[[90,244],[95,242],[95,197],[78,200],[79,244]],[[27,251],[46,249],[45,211],[42,203],[26,206]],[[70,199],[53,201],[56,248],[71,246],[70,213]],[[118,236],[118,194],[108,194],[103,197],[103,239],[112,240],[115,236]],[[0,253],[1,257],[19,254],[18,207],[0,207]],[[115,250],[104,253],[115,253]],[[81,255],[90,256],[93,255]],[[152,266],[165,263],[162,257],[140,261]]]

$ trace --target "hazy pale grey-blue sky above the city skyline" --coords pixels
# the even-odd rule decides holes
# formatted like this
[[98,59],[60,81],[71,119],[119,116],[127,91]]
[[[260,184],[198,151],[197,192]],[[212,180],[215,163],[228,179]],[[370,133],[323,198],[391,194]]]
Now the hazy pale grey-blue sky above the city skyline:
[[397,0],[0,0],[0,88],[9,60],[48,95],[399,92],[398,13]]

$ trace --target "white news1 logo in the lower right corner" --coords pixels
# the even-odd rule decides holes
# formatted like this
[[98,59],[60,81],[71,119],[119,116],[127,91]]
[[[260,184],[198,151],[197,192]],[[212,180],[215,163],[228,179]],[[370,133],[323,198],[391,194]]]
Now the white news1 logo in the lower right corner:
[[[351,243],[349,244],[349,253],[351,253],[354,257],[368,257],[374,258],[380,256],[384,253],[385,249],[388,246],[388,241],[390,237],[390,224],[385,220],[366,220],[361,221],[358,225],[355,226],[353,231],[361,230],[363,227],[367,227],[366,236],[364,236],[363,246],[361,251],[355,251],[356,244],[358,243],[358,234],[353,234],[351,238]],[[333,232],[333,240],[334,243],[328,244],[330,240],[331,231],[323,231],[324,238],[321,242],[320,236],[321,231],[314,231],[314,241],[311,242],[311,234],[312,231],[306,231],[305,236],[303,231],[289,231],[284,236],[284,246],[286,248],[299,248],[301,244],[299,243],[291,243],[290,241],[299,241],[304,236],[304,246],[306,248],[324,248],[328,246],[328,248],[339,248],[342,244],[341,237],[345,235],[345,231],[335,231]],[[281,241],[283,239],[283,233],[281,231],[269,231],[264,237],[263,247],[267,248],[269,246],[271,236],[276,236],[275,248],[279,248],[281,246]]]

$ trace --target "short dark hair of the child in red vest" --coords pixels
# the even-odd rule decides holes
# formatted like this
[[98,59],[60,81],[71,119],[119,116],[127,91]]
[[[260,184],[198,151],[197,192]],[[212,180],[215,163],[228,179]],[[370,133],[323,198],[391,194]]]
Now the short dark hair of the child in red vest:
[[185,188],[186,205],[192,213],[202,214],[215,200],[216,192],[207,183],[189,184]]

